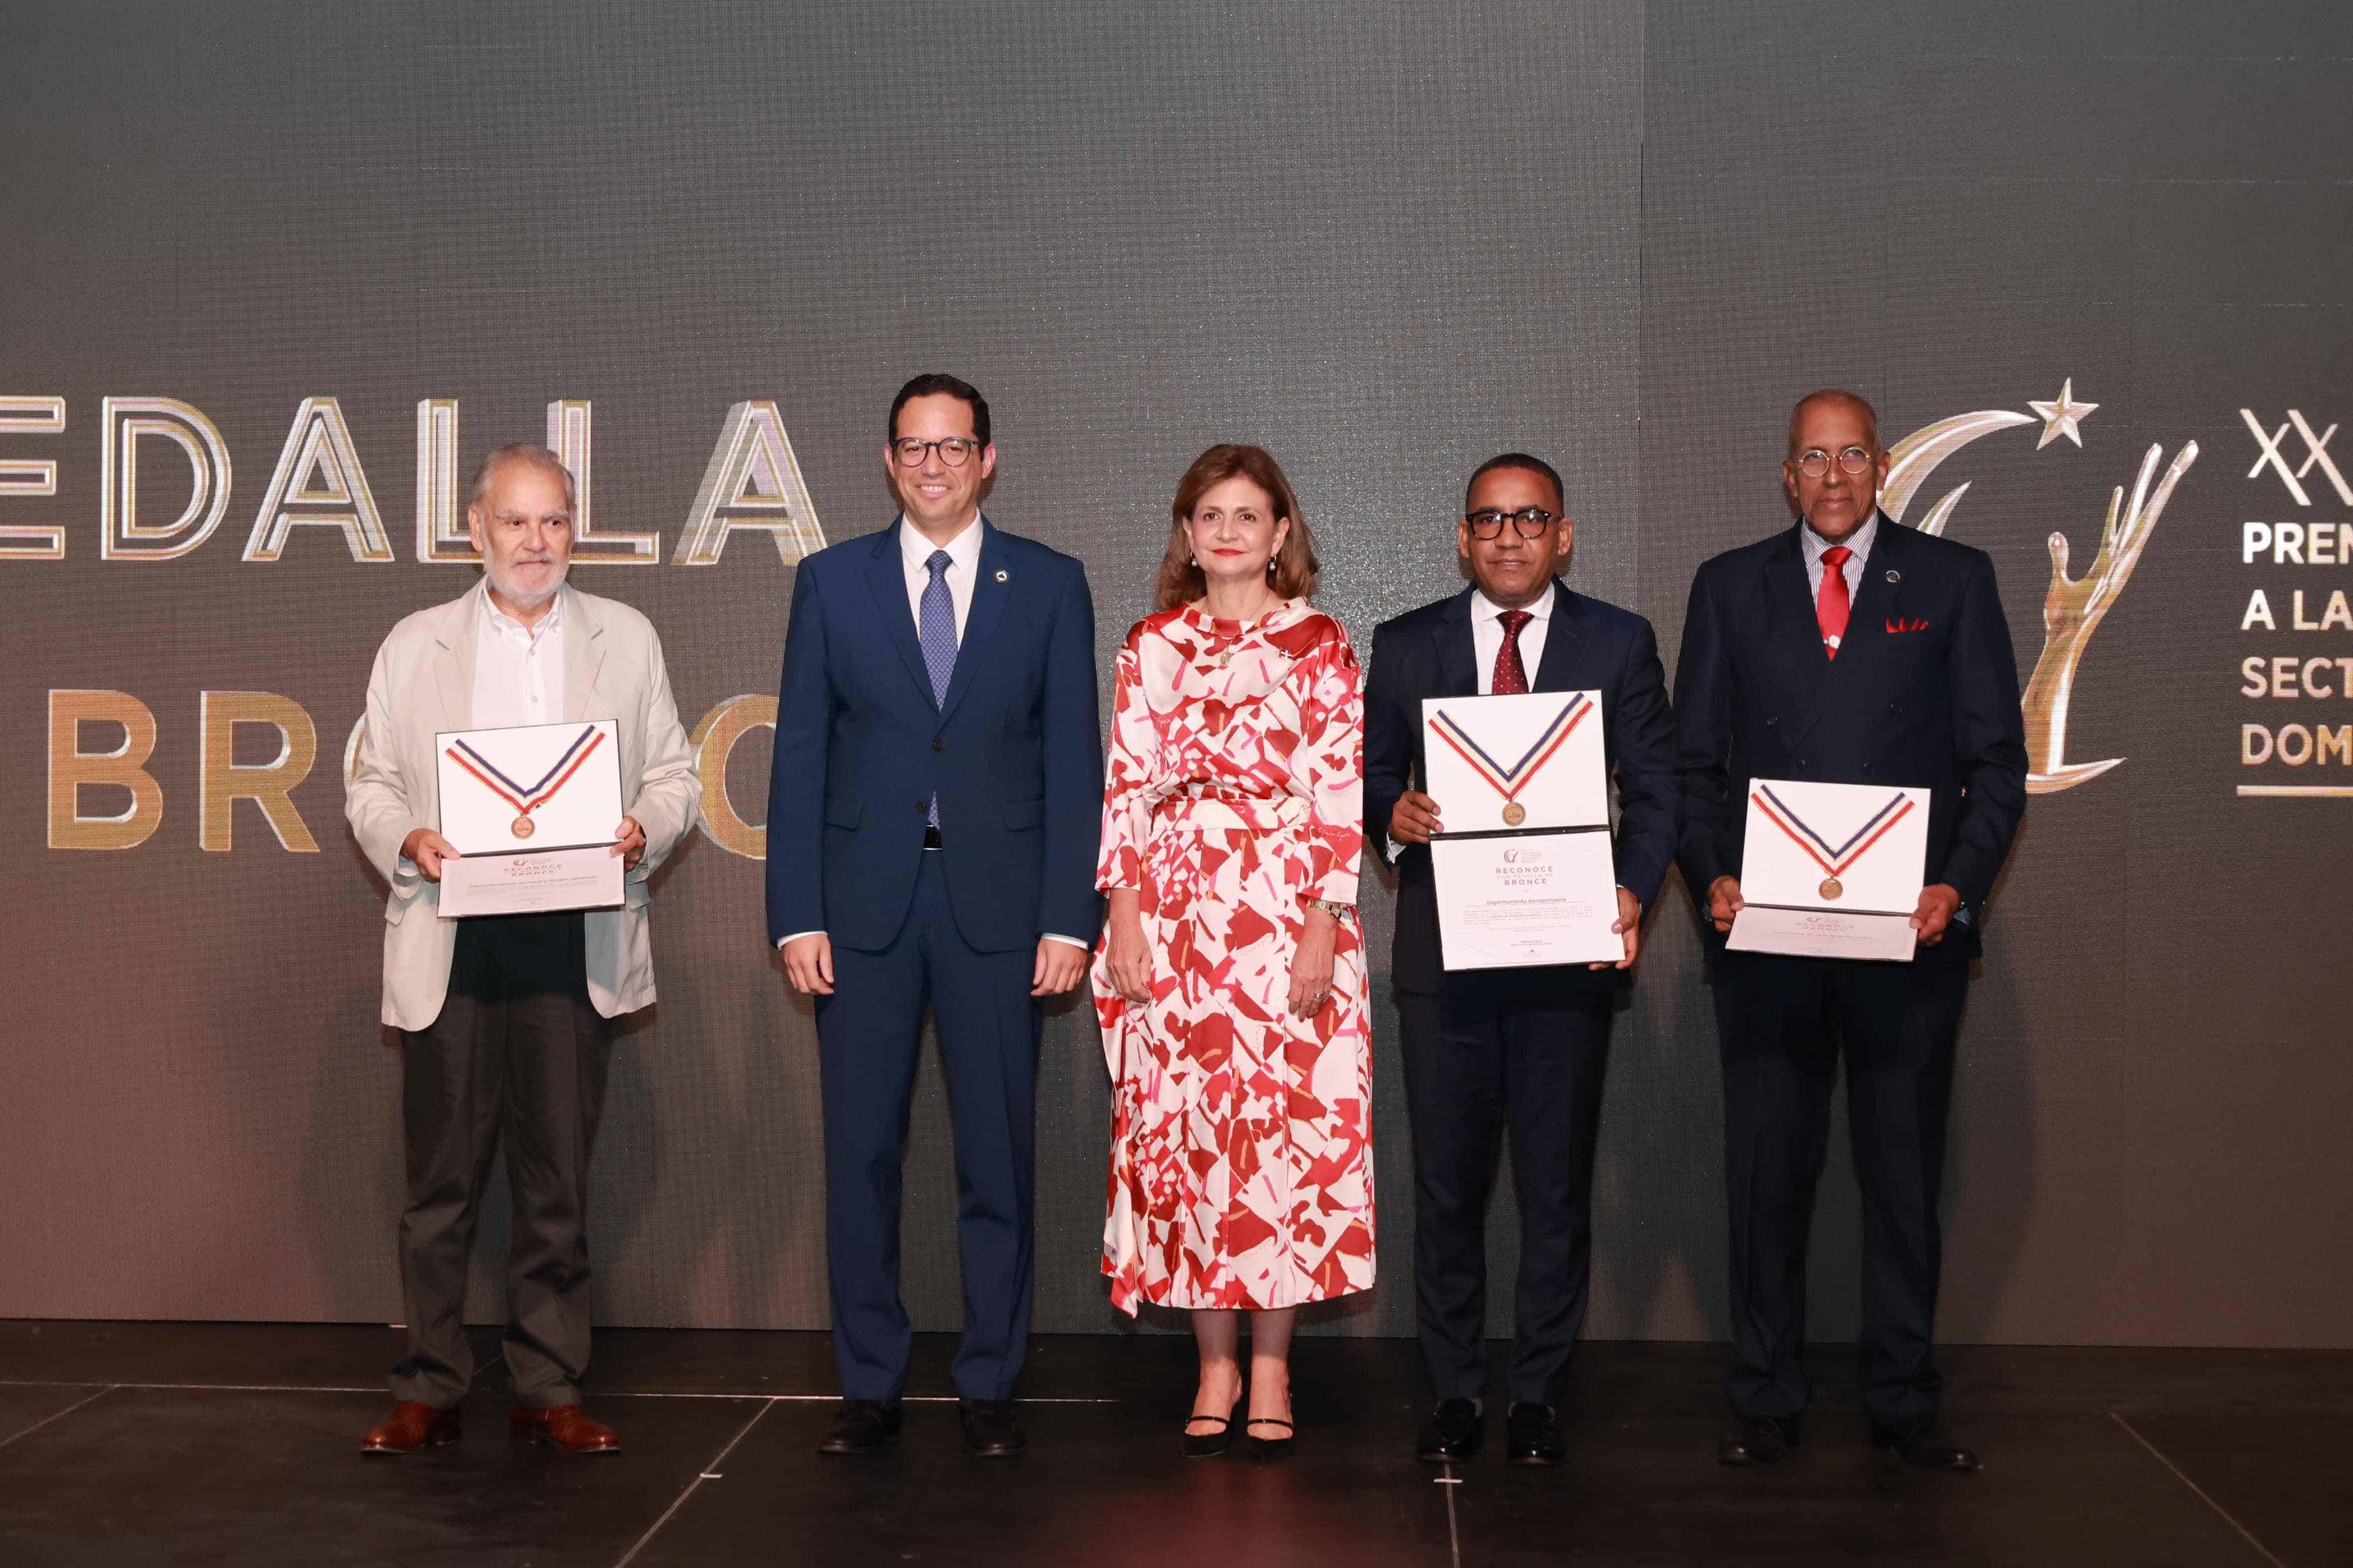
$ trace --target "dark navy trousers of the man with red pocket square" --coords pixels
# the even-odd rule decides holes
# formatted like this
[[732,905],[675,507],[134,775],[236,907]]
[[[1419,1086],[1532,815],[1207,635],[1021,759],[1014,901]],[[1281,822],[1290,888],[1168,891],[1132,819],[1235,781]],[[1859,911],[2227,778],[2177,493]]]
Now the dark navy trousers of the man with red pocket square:
[[1847,1138],[1864,1197],[1864,1408],[1882,1425],[1937,1410],[1937,1272],[1953,1039],[1969,966],[1725,952],[1715,1020],[1732,1201],[1732,1408],[1798,1415],[1812,1399],[1805,1244],[1847,1060]]

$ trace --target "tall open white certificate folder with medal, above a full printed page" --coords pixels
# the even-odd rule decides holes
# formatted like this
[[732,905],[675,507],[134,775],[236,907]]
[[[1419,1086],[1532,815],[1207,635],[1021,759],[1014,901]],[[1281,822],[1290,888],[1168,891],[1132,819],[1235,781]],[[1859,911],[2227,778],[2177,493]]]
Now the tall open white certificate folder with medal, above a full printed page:
[[1421,757],[1449,971],[1626,957],[1600,691],[1426,698]]

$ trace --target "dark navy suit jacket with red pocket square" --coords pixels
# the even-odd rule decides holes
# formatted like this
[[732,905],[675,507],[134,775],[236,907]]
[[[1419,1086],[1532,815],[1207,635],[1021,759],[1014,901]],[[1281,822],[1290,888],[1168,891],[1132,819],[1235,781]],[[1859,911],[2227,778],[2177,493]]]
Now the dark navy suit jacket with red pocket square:
[[[1751,778],[1932,790],[1927,879],[1967,910],[1993,891],[2026,813],[2026,722],[2009,623],[1984,550],[1880,512],[1838,658],[1821,646],[1791,524],[1692,578],[1675,663],[1682,882],[1741,875]],[[1951,936],[1920,957],[1972,957]],[[1960,929],[1955,926],[1955,933]],[[1720,947],[1722,938],[1708,924]]]

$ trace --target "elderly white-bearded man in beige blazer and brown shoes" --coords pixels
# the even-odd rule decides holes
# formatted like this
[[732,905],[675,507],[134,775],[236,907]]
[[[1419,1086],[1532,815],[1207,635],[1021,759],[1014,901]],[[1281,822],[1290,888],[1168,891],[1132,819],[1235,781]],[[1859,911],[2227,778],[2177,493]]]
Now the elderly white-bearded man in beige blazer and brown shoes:
[[[492,451],[466,527],[482,581],[393,628],[367,682],[367,724],[344,813],[393,884],[384,905],[384,1023],[400,1030],[407,1208],[400,1279],[407,1342],[393,1415],[365,1453],[459,1436],[473,1380],[466,1260],[489,1157],[506,1138],[513,1194],[506,1366],[518,1436],[612,1453],[581,1410],[588,1366],[588,1145],[605,1100],[614,1020],[654,999],[647,877],[694,827],[701,780],[671,701],[661,639],[635,609],[565,585],[572,475],[546,447]],[[440,917],[435,736],[449,729],[614,719],[614,827],[626,907]]]

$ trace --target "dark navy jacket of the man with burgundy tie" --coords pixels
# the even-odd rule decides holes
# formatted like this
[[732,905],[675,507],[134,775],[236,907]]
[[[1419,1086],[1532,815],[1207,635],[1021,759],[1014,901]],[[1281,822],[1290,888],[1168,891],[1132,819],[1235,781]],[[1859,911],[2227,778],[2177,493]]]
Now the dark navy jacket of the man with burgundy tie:
[[[1666,705],[1659,637],[1642,616],[1569,592],[1560,578],[1553,578],[1553,592],[1560,597],[1529,689],[1602,693],[1602,757],[1619,788],[1617,879],[1647,910],[1675,860],[1675,719]],[[1421,790],[1428,778],[1421,698],[1475,693],[1468,588],[1374,628],[1372,672],[1365,677],[1365,842],[1384,860],[1398,797]],[[1457,820],[1464,809],[1454,806]],[[1438,992],[1466,983],[1607,990],[1626,978],[1624,971],[1584,966],[1461,971],[1449,978],[1438,950],[1431,851],[1407,844],[1395,867],[1398,936],[1388,971],[1398,990]]]

